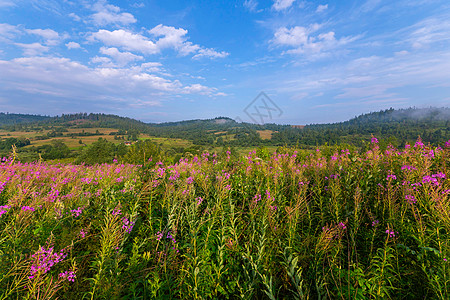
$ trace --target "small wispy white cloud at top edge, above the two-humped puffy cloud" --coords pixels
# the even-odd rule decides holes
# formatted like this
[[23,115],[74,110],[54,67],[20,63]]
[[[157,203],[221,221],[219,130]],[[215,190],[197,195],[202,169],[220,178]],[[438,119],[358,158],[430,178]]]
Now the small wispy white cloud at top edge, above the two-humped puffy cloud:
[[97,26],[108,24],[129,25],[137,21],[132,14],[121,13],[119,7],[108,4],[105,0],[97,1],[90,8],[96,12],[90,16],[90,20]]

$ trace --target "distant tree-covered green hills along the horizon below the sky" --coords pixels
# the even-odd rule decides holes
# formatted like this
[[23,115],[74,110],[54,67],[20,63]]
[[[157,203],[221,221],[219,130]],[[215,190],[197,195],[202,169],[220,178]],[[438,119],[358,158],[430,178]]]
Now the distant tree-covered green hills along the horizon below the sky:
[[[39,119],[40,118],[40,119]],[[25,120],[28,123],[25,123]],[[365,150],[371,135],[382,136],[380,144],[403,147],[414,142],[418,136],[425,143],[439,145],[450,139],[450,109],[388,109],[361,115],[349,121],[334,124],[311,124],[303,128],[290,125],[255,125],[237,123],[232,119],[218,117],[210,120],[191,120],[162,124],[147,124],[130,118],[105,114],[71,114],[58,117],[40,117],[3,114],[0,125],[8,132],[46,132],[35,140],[51,140],[55,137],[83,138],[100,135],[85,132],[87,128],[113,128],[116,140],[137,140],[140,134],[159,138],[179,138],[199,146],[258,147],[297,146],[313,149],[320,145],[353,145]],[[73,130],[77,129],[77,132]],[[68,132],[68,130],[72,130]],[[270,131],[270,138],[263,139],[260,131]],[[26,140],[24,141],[26,142]],[[11,144],[11,141],[5,143]],[[16,146],[24,146],[17,143]],[[0,144],[0,151],[4,147]],[[7,147],[6,147],[7,148]],[[6,149],[5,148],[5,149]],[[10,149],[10,148],[9,148]],[[32,150],[27,150],[32,152]],[[184,153],[183,149],[173,149]],[[79,153],[73,153],[74,156]]]

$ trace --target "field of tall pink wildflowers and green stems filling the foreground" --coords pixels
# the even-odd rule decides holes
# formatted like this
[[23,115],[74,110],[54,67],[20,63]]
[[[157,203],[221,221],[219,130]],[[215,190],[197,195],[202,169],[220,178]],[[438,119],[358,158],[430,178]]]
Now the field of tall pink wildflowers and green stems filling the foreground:
[[0,165],[0,299],[449,299],[450,142]]

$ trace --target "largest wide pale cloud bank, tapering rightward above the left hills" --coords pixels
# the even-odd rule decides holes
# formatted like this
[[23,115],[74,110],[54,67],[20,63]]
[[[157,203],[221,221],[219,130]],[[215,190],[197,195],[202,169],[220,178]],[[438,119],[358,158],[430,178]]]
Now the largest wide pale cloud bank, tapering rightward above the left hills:
[[[108,62],[106,57],[93,60]],[[210,95],[217,90],[201,84],[183,85],[179,80],[169,80],[149,73],[149,69],[160,66],[160,63],[152,62],[133,68],[90,68],[68,58],[58,57],[0,60],[0,91],[24,90],[28,87],[69,99],[81,97],[94,102],[99,99],[127,99],[127,102],[132,103],[136,99],[155,100],[152,99],[155,94]],[[121,88],[118,89],[118,86]]]

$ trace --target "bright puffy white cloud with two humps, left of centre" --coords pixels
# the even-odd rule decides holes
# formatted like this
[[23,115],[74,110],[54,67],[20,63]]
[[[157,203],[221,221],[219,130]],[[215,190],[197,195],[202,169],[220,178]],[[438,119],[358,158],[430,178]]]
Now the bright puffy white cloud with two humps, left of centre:
[[148,33],[153,39],[123,29],[114,31],[101,29],[98,32],[92,33],[88,40],[97,40],[107,46],[120,47],[124,50],[135,51],[146,55],[157,54],[164,49],[173,49],[181,56],[194,54],[194,58],[223,58],[229,55],[227,52],[218,52],[214,49],[204,48],[187,41],[188,31],[183,28],[159,24],[150,29]]

